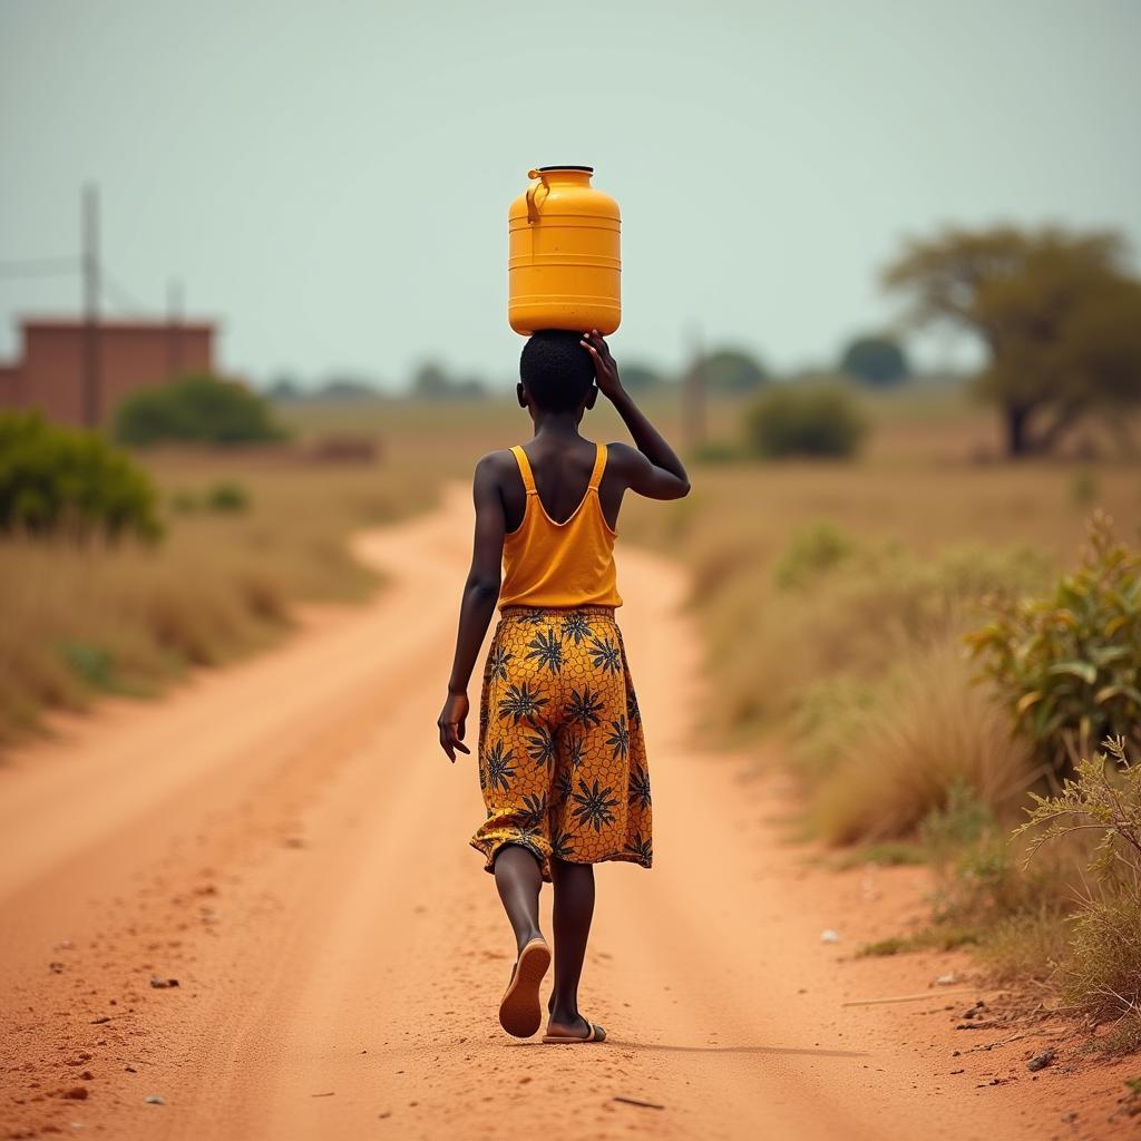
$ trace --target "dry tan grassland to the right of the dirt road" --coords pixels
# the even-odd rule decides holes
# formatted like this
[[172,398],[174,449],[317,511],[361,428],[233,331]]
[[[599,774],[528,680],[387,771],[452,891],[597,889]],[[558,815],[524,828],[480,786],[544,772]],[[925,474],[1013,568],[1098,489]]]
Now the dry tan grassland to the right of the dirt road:
[[[997,442],[977,413],[953,402],[922,422],[914,405],[881,413],[859,462],[719,456],[697,467],[689,500],[637,504],[625,535],[693,567],[704,731],[744,747],[766,731],[791,742],[808,827],[841,845],[842,865],[877,851],[930,864],[928,925],[861,954],[966,946],[996,980],[1035,980],[1091,1018],[1120,1018],[1141,986],[1136,897],[1091,912],[1077,837],[1023,868],[1010,832],[1043,774],[974,683],[961,636],[982,623],[985,596],[1039,594],[1073,565],[1094,508],[1135,545],[1141,469],[979,462]],[[1093,1012],[1099,994],[1112,1013]],[[1097,1041],[1136,1049],[1132,1015],[1118,1025]]]

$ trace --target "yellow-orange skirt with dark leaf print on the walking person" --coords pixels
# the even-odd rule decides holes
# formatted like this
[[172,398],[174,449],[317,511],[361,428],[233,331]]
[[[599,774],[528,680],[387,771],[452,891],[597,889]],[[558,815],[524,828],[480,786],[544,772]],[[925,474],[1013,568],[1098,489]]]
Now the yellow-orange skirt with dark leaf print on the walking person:
[[638,698],[614,609],[505,607],[479,702],[479,787],[471,837],[486,869],[521,844],[550,879],[572,864],[653,863],[649,770]]

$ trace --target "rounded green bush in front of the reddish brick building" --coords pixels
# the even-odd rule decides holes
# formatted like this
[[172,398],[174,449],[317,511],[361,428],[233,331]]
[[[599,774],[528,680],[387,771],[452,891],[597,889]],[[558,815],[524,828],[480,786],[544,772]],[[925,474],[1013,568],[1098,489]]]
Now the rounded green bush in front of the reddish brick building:
[[127,397],[115,411],[114,432],[121,443],[138,447],[168,440],[249,444],[284,438],[265,397],[205,374]]

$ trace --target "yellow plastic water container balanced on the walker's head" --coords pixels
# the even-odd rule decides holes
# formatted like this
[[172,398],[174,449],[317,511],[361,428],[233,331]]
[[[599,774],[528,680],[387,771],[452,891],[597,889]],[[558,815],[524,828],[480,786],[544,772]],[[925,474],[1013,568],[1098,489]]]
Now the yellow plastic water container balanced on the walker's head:
[[507,316],[537,329],[597,329],[622,319],[618,204],[590,185],[593,167],[540,167],[508,212]]

